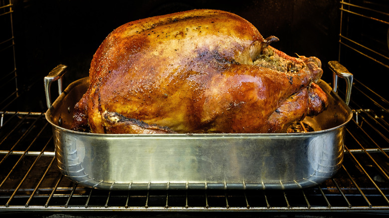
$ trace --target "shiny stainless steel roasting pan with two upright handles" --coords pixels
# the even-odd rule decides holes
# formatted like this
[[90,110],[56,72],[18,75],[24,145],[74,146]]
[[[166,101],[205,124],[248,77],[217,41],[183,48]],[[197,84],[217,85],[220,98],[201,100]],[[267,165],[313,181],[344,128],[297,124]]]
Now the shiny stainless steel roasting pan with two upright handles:
[[[55,156],[61,173],[85,187],[103,190],[301,189],[331,178],[341,167],[353,75],[336,61],[333,87],[320,80],[329,106],[303,120],[312,132],[280,134],[95,134],[70,130],[74,105],[89,78],[62,92],[59,65],[44,78]],[[346,100],[336,94],[346,80]],[[59,97],[51,104],[50,87]]]

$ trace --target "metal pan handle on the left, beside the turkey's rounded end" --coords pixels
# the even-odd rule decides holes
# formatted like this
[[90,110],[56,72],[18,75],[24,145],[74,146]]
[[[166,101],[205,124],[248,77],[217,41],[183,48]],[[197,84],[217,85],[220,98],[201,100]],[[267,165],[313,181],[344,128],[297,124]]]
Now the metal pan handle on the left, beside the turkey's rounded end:
[[62,76],[66,73],[67,66],[65,65],[58,65],[53,70],[50,71],[50,73],[44,77],[44,92],[46,94],[46,104],[47,108],[51,107],[51,92],[50,87],[51,84],[58,80],[58,94],[61,95],[62,93]]

